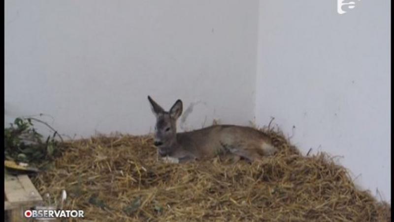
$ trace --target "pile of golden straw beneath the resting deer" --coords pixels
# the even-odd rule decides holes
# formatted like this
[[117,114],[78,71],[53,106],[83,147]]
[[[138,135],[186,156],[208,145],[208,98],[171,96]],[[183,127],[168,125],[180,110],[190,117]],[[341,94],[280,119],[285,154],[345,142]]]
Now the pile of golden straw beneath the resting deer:
[[391,221],[391,206],[357,190],[345,168],[268,134],[281,151],[252,165],[164,164],[149,136],[76,140],[33,183],[41,194],[66,189],[65,209],[91,221]]

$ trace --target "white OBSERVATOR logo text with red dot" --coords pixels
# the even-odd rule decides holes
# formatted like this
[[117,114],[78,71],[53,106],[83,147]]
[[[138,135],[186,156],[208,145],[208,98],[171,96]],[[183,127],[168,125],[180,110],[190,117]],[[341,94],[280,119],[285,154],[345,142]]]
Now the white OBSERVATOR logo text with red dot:
[[26,218],[56,219],[56,218],[83,218],[83,210],[27,210]]

